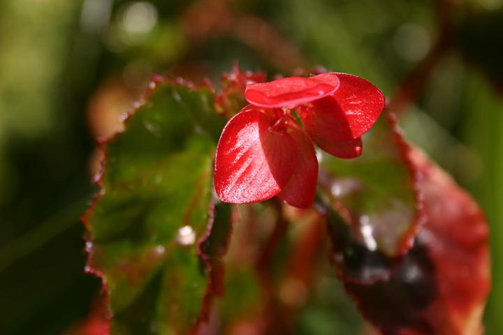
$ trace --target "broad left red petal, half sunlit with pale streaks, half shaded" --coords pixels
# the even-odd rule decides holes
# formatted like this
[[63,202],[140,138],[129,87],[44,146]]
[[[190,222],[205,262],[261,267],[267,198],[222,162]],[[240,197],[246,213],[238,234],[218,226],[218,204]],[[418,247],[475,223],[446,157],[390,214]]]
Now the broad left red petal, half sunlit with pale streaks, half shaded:
[[222,201],[267,200],[291,178],[298,160],[296,142],[289,133],[270,131],[271,121],[253,106],[228,121],[217,146],[214,171]]

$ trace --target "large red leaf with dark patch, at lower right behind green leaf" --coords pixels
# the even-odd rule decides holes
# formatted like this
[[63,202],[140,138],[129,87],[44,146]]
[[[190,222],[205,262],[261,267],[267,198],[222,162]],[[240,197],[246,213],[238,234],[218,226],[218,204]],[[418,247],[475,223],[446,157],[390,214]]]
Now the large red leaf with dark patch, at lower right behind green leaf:
[[425,198],[425,225],[414,248],[387,280],[344,285],[383,334],[482,334],[490,289],[488,225],[451,177],[418,150],[411,157]]

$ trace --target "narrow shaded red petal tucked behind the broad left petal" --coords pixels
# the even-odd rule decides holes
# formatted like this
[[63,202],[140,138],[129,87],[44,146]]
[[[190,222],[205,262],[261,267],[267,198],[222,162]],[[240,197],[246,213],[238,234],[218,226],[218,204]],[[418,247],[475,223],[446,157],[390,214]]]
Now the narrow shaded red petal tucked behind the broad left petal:
[[290,135],[298,147],[298,163],[288,184],[278,197],[287,204],[298,207],[311,207],[318,180],[318,160],[311,139],[300,128],[291,128]]

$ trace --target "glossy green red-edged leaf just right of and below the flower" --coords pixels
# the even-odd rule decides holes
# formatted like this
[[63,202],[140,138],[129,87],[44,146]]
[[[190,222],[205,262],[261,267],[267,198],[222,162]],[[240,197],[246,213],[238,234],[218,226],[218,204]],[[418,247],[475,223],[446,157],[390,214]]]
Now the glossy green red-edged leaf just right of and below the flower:
[[[366,148],[359,158],[340,160],[323,155],[319,191],[351,228],[353,242],[348,248],[366,246],[372,255],[395,258],[407,253],[421,222],[417,176],[409,161],[409,147],[391,117],[381,117],[363,140]],[[341,253],[347,251],[341,246]],[[370,257],[355,250],[351,253],[357,258]],[[384,272],[365,268],[346,275],[372,282],[387,274],[384,268]]]

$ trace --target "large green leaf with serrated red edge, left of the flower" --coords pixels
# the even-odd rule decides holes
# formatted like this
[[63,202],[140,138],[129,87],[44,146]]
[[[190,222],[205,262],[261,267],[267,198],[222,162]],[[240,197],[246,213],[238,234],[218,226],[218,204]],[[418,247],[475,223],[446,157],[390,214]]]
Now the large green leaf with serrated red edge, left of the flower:
[[156,78],[126,131],[103,144],[101,191],[84,221],[112,334],[189,334],[205,318],[219,291],[212,243],[225,246],[230,229],[212,195],[223,125],[211,89]]

